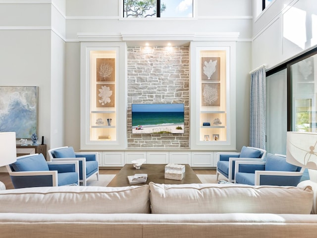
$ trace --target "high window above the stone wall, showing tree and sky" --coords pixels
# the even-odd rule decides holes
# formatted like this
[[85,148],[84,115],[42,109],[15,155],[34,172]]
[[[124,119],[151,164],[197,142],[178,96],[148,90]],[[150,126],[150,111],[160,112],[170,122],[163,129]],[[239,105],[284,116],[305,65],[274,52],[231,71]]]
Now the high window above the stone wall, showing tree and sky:
[[193,0],[123,0],[123,17],[193,17]]

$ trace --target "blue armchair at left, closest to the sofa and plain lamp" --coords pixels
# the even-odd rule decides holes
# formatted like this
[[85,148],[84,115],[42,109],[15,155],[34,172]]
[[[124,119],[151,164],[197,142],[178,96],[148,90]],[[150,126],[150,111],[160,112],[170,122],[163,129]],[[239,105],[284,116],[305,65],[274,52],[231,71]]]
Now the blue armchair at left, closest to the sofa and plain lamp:
[[79,184],[77,161],[47,162],[43,154],[19,156],[6,169],[14,188]]

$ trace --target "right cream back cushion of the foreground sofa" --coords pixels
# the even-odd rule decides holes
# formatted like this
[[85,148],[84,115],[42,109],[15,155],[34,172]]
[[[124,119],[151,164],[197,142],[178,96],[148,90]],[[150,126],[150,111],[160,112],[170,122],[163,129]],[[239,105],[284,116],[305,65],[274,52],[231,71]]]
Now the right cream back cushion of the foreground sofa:
[[152,213],[310,214],[312,187],[149,183]]

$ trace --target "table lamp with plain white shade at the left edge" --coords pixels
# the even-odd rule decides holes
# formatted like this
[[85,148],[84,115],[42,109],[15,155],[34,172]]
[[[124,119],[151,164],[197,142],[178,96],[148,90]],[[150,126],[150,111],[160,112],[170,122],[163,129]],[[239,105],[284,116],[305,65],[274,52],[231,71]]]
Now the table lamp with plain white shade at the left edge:
[[[0,166],[12,164],[16,161],[16,138],[15,132],[0,132]],[[0,181],[0,190],[5,185]]]

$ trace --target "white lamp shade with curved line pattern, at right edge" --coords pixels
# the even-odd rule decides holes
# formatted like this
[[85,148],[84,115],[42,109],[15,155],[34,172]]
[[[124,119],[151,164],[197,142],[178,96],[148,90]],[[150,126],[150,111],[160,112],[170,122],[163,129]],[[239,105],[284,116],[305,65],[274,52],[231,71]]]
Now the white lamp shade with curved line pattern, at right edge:
[[317,170],[317,133],[288,131],[286,161],[293,165]]

